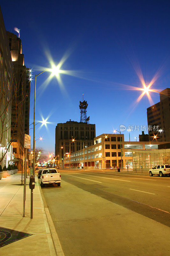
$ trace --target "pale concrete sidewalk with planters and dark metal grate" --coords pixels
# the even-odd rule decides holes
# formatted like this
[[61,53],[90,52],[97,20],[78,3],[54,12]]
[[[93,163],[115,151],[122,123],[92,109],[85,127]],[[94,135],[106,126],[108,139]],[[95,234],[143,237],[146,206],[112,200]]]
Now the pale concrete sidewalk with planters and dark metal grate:
[[[43,195],[37,176],[35,182],[35,189],[33,189],[33,219],[31,220],[29,178],[26,179],[26,217],[22,217],[24,186],[21,186],[21,173],[0,180],[0,227],[31,234],[1,247],[1,256],[63,255],[54,224],[46,203],[42,199]],[[19,236],[21,235],[22,233],[19,233]],[[3,236],[1,233],[0,240],[3,239]]]

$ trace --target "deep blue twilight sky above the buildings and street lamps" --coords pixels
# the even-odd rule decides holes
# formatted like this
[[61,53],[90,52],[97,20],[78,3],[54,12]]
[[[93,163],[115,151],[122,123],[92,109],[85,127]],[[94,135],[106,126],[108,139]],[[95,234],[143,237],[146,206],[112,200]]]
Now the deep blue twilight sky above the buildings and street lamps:
[[[137,71],[151,89],[169,87],[169,1],[2,1],[6,30],[20,28],[26,67],[33,75],[57,65],[66,56],[60,74],[63,85],[49,73],[37,77],[36,121],[48,118],[48,130],[37,124],[36,141],[47,151],[55,150],[55,126],[69,119],[80,121],[79,100],[87,100],[87,116],[96,124],[96,136],[112,133],[121,124],[146,125],[146,108],[159,101],[159,93],[146,94]],[[18,35],[18,34],[17,34]],[[50,57],[51,56],[51,57]],[[68,57],[68,58],[67,58]],[[51,62],[52,63],[52,62]],[[33,122],[34,77],[31,83],[30,124]],[[30,125],[32,128],[33,125]],[[141,131],[130,132],[135,140]],[[147,131],[145,132],[147,133]],[[33,139],[33,129],[30,130]],[[129,140],[129,132],[124,132]]]

